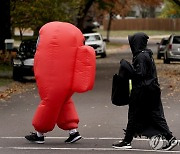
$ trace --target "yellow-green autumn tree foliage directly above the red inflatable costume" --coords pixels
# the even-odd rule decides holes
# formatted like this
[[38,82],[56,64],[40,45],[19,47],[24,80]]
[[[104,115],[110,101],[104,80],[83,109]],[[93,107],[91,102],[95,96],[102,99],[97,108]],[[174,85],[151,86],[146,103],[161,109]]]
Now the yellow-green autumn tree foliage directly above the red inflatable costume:
[[35,35],[42,25],[51,21],[74,23],[79,3],[76,0],[11,0],[12,28],[18,27],[21,34],[31,28]]

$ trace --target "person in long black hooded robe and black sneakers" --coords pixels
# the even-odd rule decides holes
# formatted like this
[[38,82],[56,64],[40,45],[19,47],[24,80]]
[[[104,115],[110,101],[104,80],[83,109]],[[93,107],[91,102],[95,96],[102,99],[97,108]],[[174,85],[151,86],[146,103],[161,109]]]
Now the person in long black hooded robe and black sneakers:
[[171,140],[176,139],[169,130],[164,116],[153,53],[146,48],[148,38],[142,32],[128,37],[133,55],[132,67],[126,67],[125,60],[121,61],[121,65],[126,67],[132,80],[128,124],[124,140],[113,144],[114,148],[131,148],[130,143],[133,137],[151,138],[158,134],[169,141],[164,149],[169,150],[177,145],[177,142],[173,145],[170,143]]

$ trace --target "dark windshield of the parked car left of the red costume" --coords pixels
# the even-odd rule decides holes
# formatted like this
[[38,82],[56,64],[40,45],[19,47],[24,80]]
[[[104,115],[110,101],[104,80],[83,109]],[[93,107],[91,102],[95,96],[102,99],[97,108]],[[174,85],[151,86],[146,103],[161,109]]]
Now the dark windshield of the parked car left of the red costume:
[[36,52],[36,40],[23,41],[19,47],[19,56],[21,58],[34,58]]

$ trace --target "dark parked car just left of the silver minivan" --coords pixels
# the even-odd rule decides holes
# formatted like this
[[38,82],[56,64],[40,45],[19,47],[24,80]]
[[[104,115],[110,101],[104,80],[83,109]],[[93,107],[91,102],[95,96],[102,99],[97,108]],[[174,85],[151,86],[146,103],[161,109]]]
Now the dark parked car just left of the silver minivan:
[[168,43],[168,38],[162,38],[161,42],[158,43],[157,48],[157,59],[161,59],[161,57],[164,57],[164,49]]

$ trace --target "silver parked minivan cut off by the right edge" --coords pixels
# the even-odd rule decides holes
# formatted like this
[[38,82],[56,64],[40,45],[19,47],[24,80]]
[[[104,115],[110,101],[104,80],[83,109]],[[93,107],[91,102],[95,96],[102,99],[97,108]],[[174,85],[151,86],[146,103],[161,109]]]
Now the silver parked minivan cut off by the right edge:
[[180,61],[180,35],[171,35],[164,50],[164,63]]

